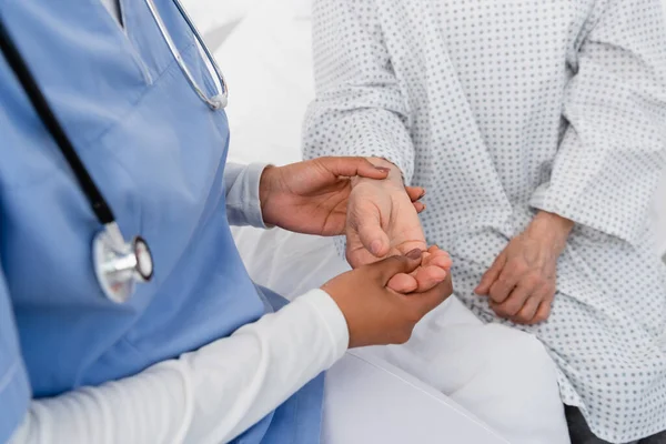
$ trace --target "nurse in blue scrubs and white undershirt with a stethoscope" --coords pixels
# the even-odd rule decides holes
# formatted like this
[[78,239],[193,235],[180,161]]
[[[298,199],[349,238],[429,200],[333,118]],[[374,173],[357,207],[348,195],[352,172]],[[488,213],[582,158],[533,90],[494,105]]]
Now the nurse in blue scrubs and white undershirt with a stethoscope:
[[322,372],[405,342],[450,259],[415,250],[282,307],[229,225],[340,234],[349,178],[387,171],[225,165],[225,85],[171,0],[0,18],[0,442],[319,442]]

